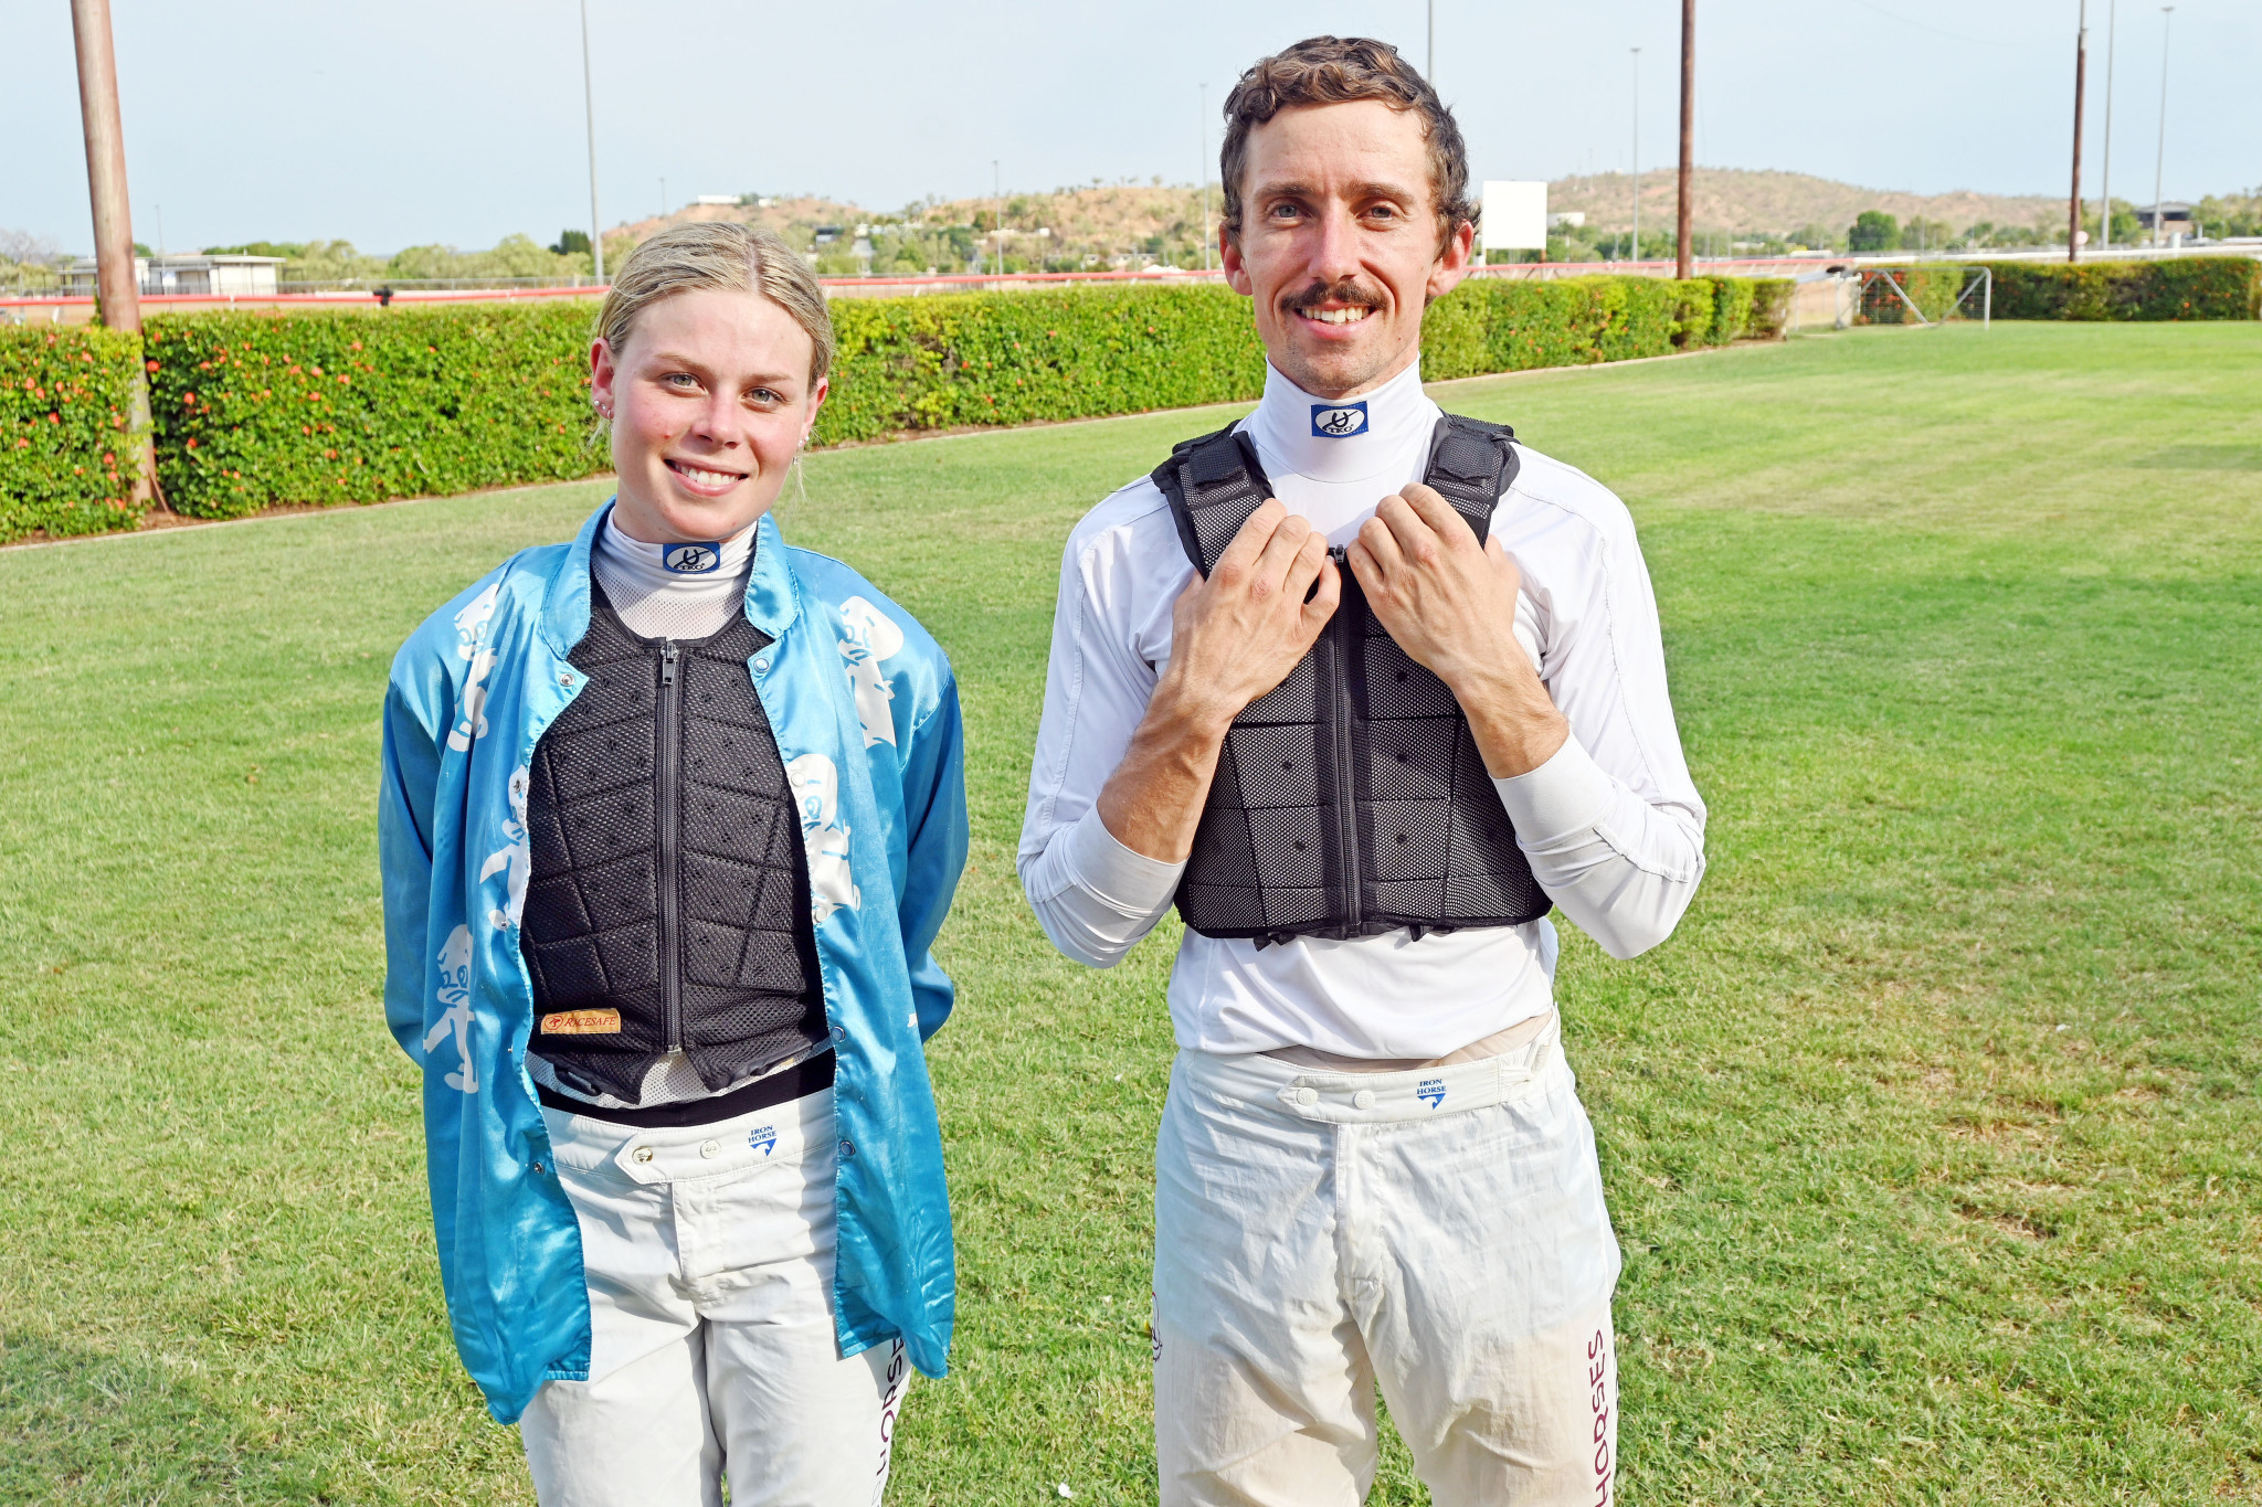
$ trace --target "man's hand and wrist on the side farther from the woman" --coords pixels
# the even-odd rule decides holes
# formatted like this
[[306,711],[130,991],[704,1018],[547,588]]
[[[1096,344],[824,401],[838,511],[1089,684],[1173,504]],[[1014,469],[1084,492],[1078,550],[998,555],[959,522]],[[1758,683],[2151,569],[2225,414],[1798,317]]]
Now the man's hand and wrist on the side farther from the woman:
[[1522,576],[1497,538],[1477,545],[1450,502],[1414,484],[1382,499],[1346,556],[1375,619],[1461,703],[1493,777],[1527,775],[1563,748],[1570,723],[1516,642]]

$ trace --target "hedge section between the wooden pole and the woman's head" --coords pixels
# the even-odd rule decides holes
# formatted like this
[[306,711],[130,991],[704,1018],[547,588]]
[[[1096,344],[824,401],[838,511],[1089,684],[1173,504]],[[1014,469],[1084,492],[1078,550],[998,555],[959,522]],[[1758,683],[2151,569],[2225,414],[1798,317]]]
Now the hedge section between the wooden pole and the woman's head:
[[590,305],[457,303],[149,321],[158,481],[190,517],[606,470]]

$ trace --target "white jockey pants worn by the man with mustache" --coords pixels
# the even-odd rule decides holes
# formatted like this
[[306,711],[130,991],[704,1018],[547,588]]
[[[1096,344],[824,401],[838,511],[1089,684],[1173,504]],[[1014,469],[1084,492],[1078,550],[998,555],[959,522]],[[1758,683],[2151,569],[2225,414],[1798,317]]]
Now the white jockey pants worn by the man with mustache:
[[1181,1051],[1156,1141],[1163,1507],[1357,1507],[1375,1387],[1439,1507],[1606,1507],[1617,1240],[1561,1033],[1326,1073]]

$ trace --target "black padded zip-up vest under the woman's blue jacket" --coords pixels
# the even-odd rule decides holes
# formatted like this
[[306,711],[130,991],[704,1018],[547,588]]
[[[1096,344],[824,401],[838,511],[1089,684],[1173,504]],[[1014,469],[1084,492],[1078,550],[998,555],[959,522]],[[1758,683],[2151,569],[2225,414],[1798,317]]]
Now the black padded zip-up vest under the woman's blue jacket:
[[681,1048],[726,1089],[826,1044],[801,813],[737,615],[706,639],[645,639],[590,581],[588,676],[534,748],[520,951],[529,1051],[559,1082],[638,1103]]

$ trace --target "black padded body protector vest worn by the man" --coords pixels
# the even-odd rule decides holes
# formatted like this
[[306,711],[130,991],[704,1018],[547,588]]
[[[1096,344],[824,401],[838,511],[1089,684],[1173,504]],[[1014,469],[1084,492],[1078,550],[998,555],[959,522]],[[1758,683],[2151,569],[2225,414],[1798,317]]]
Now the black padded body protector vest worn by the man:
[[[1448,413],[1423,484],[1486,538],[1516,479],[1516,434]],[[1219,429],[1154,472],[1203,576],[1271,481],[1255,447]],[[1520,926],[1552,908],[1445,682],[1375,621],[1344,563],[1344,596],[1312,651],[1249,703],[1179,881],[1179,915],[1208,938],[1366,938]]]

